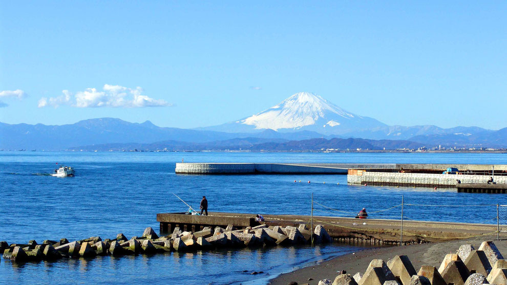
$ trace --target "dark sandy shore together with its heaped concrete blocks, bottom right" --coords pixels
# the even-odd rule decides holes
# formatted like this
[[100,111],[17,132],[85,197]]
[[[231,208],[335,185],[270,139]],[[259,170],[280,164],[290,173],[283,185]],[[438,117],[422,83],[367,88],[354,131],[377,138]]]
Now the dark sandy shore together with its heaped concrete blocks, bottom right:
[[[493,243],[480,237],[443,243],[365,249],[326,260],[316,266],[282,274],[271,279],[269,283],[284,285],[454,283],[458,285],[466,284],[470,278],[467,284],[482,284],[477,283],[478,280],[484,282],[491,280],[495,284],[503,284],[507,283],[507,277],[505,277],[507,262],[500,252],[507,252],[506,240]],[[392,272],[394,278],[389,274],[379,274],[379,272],[387,272],[386,270]],[[345,274],[339,274],[340,272],[345,272]],[[461,273],[452,275],[450,272]],[[400,273],[405,273],[405,277],[402,278],[404,274]],[[438,277],[433,277],[438,274],[443,276],[443,283],[436,281]],[[363,279],[365,276],[367,278]],[[411,278],[414,278],[413,282]],[[433,280],[433,278],[436,279]],[[446,278],[452,278],[452,280]]]

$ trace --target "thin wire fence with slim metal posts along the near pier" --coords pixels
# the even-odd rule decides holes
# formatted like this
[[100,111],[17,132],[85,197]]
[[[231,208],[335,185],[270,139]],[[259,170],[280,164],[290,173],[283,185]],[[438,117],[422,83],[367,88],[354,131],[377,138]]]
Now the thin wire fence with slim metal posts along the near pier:
[[[471,209],[478,209],[480,212],[480,218],[481,220],[478,220],[477,217],[475,217],[473,224],[484,224],[484,225],[496,225],[496,231],[488,232],[488,233],[481,233],[479,235],[468,235],[468,236],[454,236],[453,238],[471,238],[476,236],[484,236],[484,235],[494,235],[496,234],[497,239],[500,238],[501,232],[507,232],[507,205],[499,205],[499,204],[466,204],[466,205],[435,205],[435,204],[411,204],[411,203],[404,203],[403,196],[402,196],[402,203],[388,206],[385,208],[380,209],[374,209],[374,211],[368,211],[367,212],[367,218],[368,219],[386,219],[386,220],[398,220],[400,222],[400,230],[373,230],[368,229],[368,231],[371,232],[395,232],[399,233],[400,235],[400,245],[403,244],[403,236],[421,236],[421,237],[428,237],[424,235],[418,235],[415,233],[407,232],[403,229],[403,222],[410,221],[410,222],[416,222],[420,223],[422,225],[429,225],[436,221],[421,221],[420,216],[419,218],[415,216],[414,211],[410,211],[410,209],[413,208],[422,208],[427,209],[431,207],[432,209],[438,207],[444,209],[441,212],[445,213],[454,213],[457,211],[457,208],[460,209],[460,211],[464,211],[465,215],[467,212],[467,208]],[[343,204],[341,206],[346,207],[346,204]],[[463,209],[465,208],[465,209]],[[435,210],[432,210],[430,212],[435,212]],[[409,215],[407,215],[409,213]],[[351,211],[349,209],[341,208],[341,207],[329,207],[323,203],[319,203],[313,199],[312,194],[312,211],[311,211],[311,217],[308,224],[314,224],[314,223],[321,223],[321,224],[328,224],[335,227],[341,227],[346,229],[353,229],[353,230],[365,230],[364,228],[355,228],[355,227],[348,227],[344,226],[343,224],[340,225],[339,222],[325,222],[319,220],[319,217],[314,217],[314,215],[317,216],[335,216],[335,217],[356,217],[360,218],[360,213],[358,211]],[[426,215],[428,216],[428,215]],[[357,225],[357,224],[353,224]],[[438,237],[438,236],[431,236],[431,238],[445,238],[449,239],[449,237]]]

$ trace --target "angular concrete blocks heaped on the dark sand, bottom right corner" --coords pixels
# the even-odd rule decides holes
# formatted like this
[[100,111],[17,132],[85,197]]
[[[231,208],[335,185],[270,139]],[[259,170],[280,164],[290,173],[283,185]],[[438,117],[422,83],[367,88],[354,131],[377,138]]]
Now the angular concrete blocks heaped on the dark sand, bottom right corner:
[[[446,252],[442,252],[442,256]],[[323,279],[318,284],[475,285],[506,283],[507,260],[503,259],[503,255],[493,242],[487,241],[482,242],[477,250],[471,244],[461,245],[456,253],[446,254],[438,268],[432,265],[423,265],[416,271],[407,255],[395,255],[387,262],[383,259],[371,260],[365,272],[351,275],[340,271],[334,281]]]

